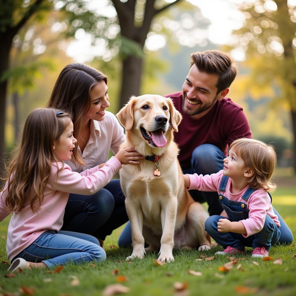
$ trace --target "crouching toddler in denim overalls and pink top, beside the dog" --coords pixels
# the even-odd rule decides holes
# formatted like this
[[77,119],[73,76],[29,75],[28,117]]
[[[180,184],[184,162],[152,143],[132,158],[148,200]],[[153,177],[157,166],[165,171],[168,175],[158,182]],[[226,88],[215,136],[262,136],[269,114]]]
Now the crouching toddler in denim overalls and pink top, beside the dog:
[[242,138],[230,145],[220,172],[184,175],[189,190],[218,191],[224,211],[205,221],[207,233],[224,248],[215,254],[243,253],[247,246],[253,247],[252,257],[265,257],[278,242],[280,223],[268,193],[276,188],[270,180],[275,166],[272,146]]

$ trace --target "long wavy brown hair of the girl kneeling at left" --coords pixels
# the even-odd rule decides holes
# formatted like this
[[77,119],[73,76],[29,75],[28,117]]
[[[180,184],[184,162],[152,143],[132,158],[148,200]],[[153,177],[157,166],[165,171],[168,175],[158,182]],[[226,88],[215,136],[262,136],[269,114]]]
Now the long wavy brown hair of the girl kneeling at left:
[[41,206],[52,163],[63,163],[54,152],[54,141],[59,141],[70,121],[70,114],[61,110],[38,108],[30,112],[7,169],[8,210],[17,214],[28,202],[33,212]]

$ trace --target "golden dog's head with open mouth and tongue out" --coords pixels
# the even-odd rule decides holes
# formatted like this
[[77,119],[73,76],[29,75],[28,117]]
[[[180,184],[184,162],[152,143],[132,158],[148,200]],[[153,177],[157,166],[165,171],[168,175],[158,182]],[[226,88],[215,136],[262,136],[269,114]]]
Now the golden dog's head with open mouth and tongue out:
[[170,98],[151,94],[132,96],[116,116],[134,145],[152,148],[165,147],[182,119]]

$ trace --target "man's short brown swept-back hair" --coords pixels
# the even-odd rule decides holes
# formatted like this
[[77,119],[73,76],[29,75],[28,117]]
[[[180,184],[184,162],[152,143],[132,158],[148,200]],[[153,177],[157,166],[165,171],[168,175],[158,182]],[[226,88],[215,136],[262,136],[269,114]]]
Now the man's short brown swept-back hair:
[[217,82],[217,94],[230,86],[237,75],[237,66],[233,64],[231,56],[219,50],[206,50],[191,54],[190,67],[195,64],[200,72],[216,74],[219,76]]

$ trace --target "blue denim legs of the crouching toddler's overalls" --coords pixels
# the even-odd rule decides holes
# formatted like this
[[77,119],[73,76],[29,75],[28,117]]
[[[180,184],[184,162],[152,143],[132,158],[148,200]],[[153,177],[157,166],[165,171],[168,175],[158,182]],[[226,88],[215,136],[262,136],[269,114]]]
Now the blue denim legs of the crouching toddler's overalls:
[[219,232],[217,223],[219,219],[223,218],[225,217],[213,215],[205,221],[205,231],[223,248],[231,246],[238,250],[244,250],[244,247],[253,247],[253,249],[255,247],[265,247],[269,251],[270,247],[275,245],[279,240],[279,227],[276,226],[276,223],[268,215],[266,215],[263,229],[249,237],[243,237],[242,234],[234,232]]

